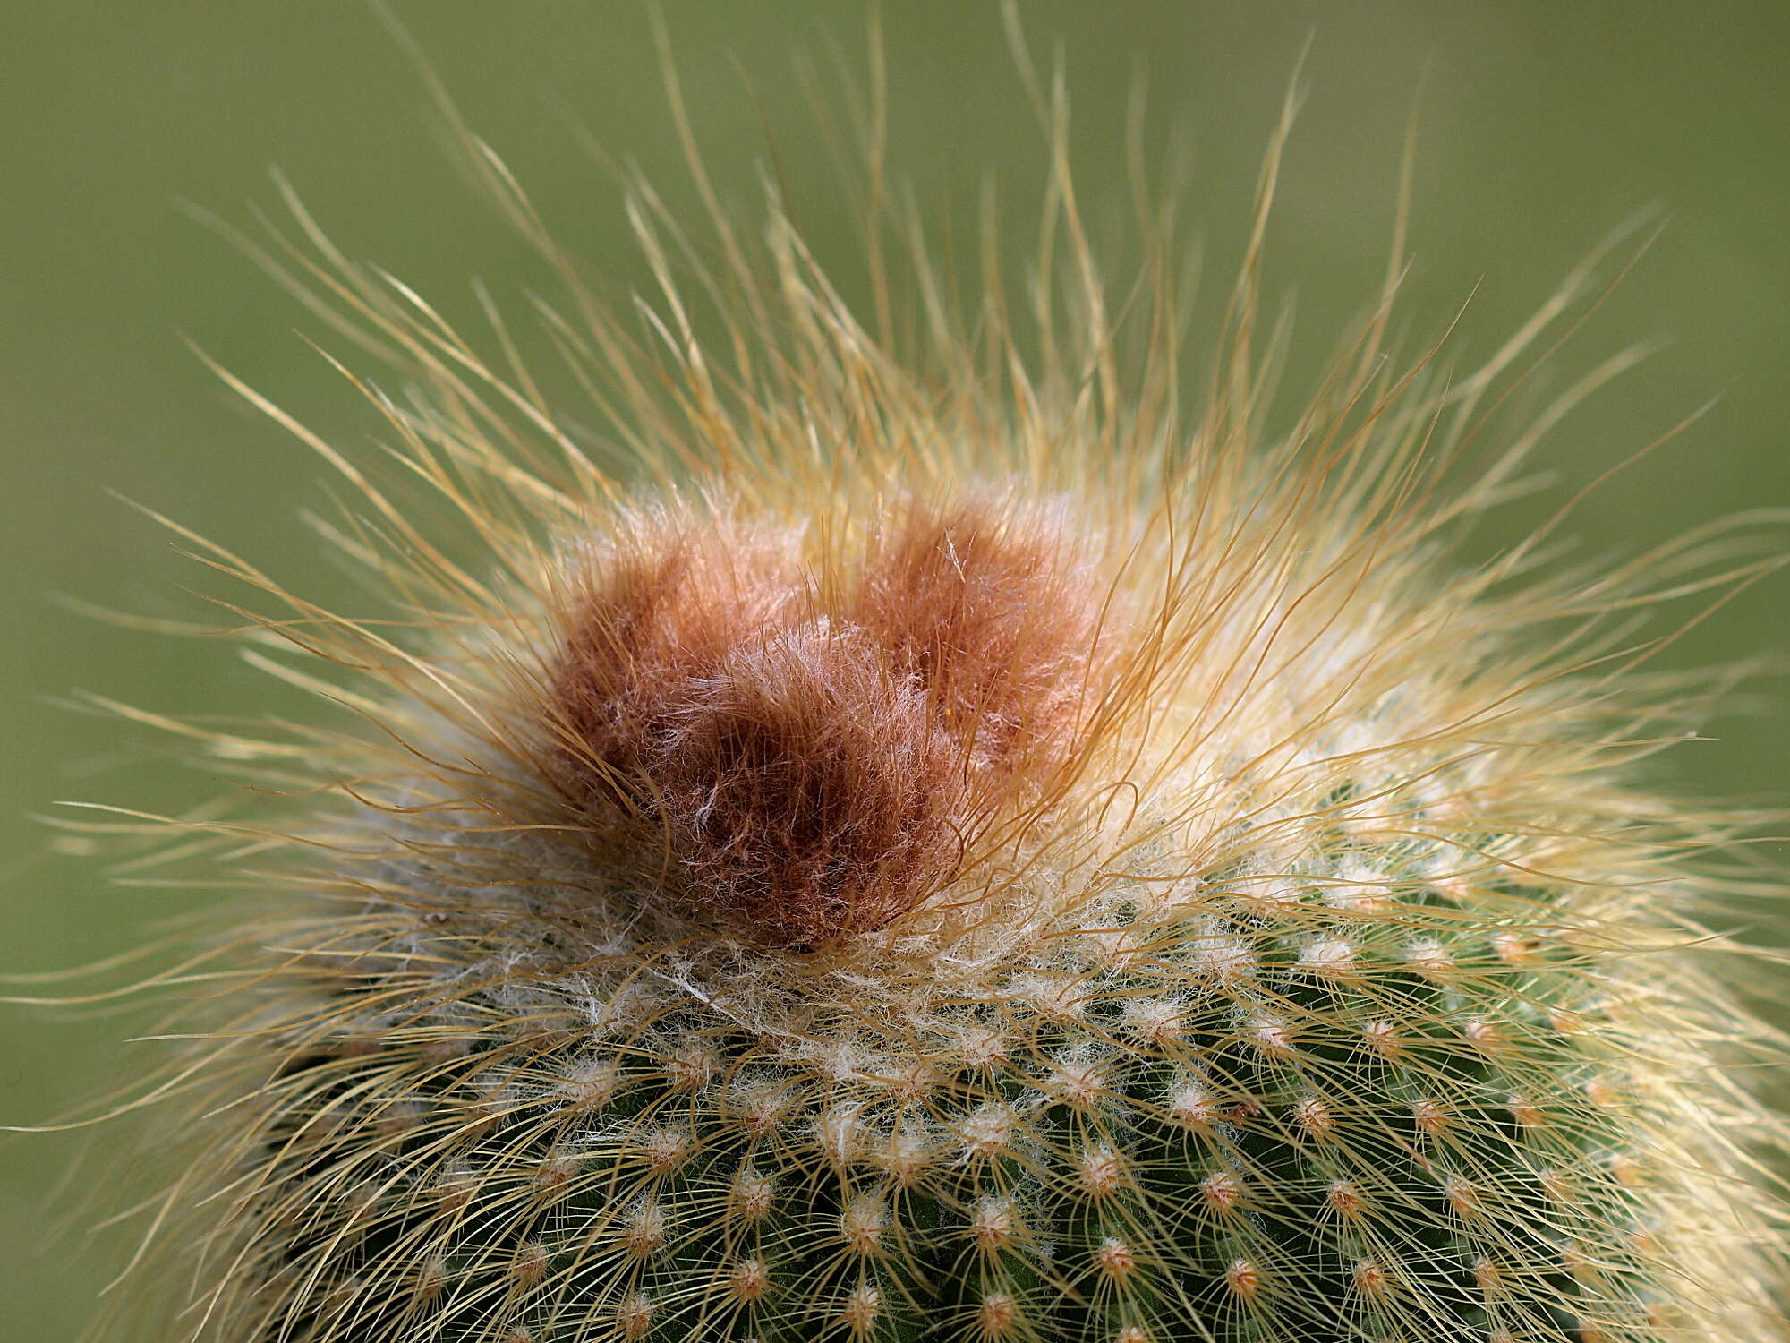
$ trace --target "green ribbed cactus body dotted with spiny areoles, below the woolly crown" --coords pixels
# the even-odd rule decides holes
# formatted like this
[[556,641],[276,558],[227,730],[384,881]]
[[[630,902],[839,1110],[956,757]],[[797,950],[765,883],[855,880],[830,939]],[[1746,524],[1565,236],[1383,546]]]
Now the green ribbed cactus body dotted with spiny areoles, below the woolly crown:
[[750,1030],[614,981],[598,1026],[555,994],[344,1017],[274,1092],[261,1182],[299,1225],[261,1253],[313,1286],[265,1336],[1670,1336],[1559,890],[1448,895],[1436,845],[1341,831],[1308,856],[1121,886],[891,1019]]

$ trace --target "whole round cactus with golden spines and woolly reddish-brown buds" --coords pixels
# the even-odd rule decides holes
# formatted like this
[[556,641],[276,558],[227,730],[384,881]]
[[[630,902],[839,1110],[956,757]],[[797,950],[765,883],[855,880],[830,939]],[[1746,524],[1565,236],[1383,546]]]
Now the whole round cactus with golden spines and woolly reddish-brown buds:
[[388,605],[206,552],[345,718],[202,738],[303,804],[181,822],[258,890],[143,1098],[120,1336],[1774,1336],[1781,1133],[1727,1071],[1767,1031],[1699,922],[1743,818],[1629,770],[1699,686],[1625,621],[1752,569],[1450,560],[1539,322],[1443,378],[1382,303],[1271,432],[1273,156],[1198,389],[1172,238],[1103,278],[1058,134],[1038,331],[900,220],[922,335],[775,199],[754,249],[641,184],[639,337],[464,143],[589,401],[303,213],[258,252],[417,389],[369,392],[408,485],[242,389],[354,483],[328,537]]

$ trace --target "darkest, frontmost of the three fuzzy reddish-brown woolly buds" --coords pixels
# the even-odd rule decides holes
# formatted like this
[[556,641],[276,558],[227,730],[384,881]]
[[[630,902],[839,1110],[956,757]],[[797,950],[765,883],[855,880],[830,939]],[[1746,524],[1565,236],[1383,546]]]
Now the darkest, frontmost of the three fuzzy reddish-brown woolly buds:
[[693,688],[655,763],[695,894],[773,942],[881,928],[958,861],[961,752],[856,630],[743,646]]

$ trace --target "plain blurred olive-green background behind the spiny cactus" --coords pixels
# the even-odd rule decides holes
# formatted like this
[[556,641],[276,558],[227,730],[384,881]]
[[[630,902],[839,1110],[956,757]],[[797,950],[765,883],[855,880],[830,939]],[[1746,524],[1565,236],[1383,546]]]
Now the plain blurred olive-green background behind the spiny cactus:
[[[281,167],[345,251],[464,312],[482,276],[519,308],[537,274],[437,147],[424,91],[360,0],[64,0],[0,13],[0,962],[38,971],[109,954],[192,895],[109,888],[30,818],[55,799],[174,808],[208,793],[158,743],[47,702],[86,688],[159,711],[247,707],[254,675],[222,648],[68,614],[54,595],[192,614],[179,589],[220,591],[165,534],[109,498],[168,512],[306,593],[342,589],[297,521],[324,503],[320,466],[220,390],[181,333],[315,424],[363,442],[349,390],[297,333],[306,317],[215,235],[193,201],[247,220]],[[750,201],[766,156],[823,256],[848,258],[823,138],[791,54],[857,57],[843,0],[668,0],[705,152]],[[1487,353],[1613,226],[1649,206],[1668,229],[1548,378],[1641,338],[1672,344],[1552,439],[1557,491],[1591,480],[1715,392],[1717,410],[1579,512],[1593,552],[1634,548],[1727,510],[1790,503],[1790,5],[1783,0],[1126,0],[1022,5],[1035,43],[1061,41],[1088,201],[1124,190],[1115,145],[1133,72],[1194,136],[1192,215],[1223,276],[1276,104],[1301,45],[1310,98],[1271,233],[1267,288],[1298,297],[1289,392],[1371,297],[1393,218],[1414,88],[1421,102],[1411,329],[1434,333],[1479,285],[1461,351]],[[510,159],[564,240],[618,281],[643,267],[616,192],[575,147],[571,118],[616,154],[689,188],[664,113],[646,9],[569,0],[408,0],[399,14]],[[981,174],[1024,224],[1040,141],[999,11],[891,0],[882,13],[891,158],[940,215],[968,220]],[[736,70],[750,73],[752,93]],[[1484,546],[1563,498],[1509,509]],[[1767,582],[1670,652],[1699,664],[1785,652],[1790,593]],[[1772,688],[1769,688],[1772,689]],[[1781,793],[1790,716],[1738,706],[1675,750],[1679,786]],[[0,1121],[52,1117],[140,1067],[131,1019],[0,1014]],[[102,1135],[104,1142],[106,1137]],[[0,1144],[0,1332],[72,1338],[104,1282],[55,1180],[68,1139]]]

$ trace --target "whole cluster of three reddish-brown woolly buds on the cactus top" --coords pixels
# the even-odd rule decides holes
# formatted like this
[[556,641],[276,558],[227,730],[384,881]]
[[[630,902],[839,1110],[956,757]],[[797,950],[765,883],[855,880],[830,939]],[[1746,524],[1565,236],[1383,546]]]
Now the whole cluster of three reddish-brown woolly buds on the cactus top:
[[1063,768],[1097,697],[1097,593],[1061,510],[872,516],[814,555],[662,510],[573,578],[541,711],[560,786],[748,940],[827,945],[911,910]]

